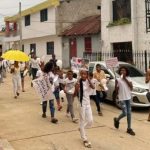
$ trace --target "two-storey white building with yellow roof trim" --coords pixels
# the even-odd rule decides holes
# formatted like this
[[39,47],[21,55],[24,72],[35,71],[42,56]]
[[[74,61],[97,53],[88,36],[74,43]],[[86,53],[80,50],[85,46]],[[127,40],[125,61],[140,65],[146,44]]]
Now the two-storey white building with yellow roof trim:
[[[45,1],[21,12],[22,50],[27,54],[34,50],[38,57],[45,55],[48,60],[55,53],[61,59],[62,42],[56,34],[56,9],[50,1]],[[19,49],[19,14],[6,17],[5,22],[6,49]]]

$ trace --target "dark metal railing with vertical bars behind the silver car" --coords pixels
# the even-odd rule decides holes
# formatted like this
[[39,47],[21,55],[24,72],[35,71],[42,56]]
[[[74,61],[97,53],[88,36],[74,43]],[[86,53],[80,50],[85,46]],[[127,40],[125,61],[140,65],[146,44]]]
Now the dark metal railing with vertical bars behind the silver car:
[[104,52],[84,52],[83,58],[90,61],[105,61],[109,58],[117,57],[119,61],[128,62],[135,65],[142,71],[146,71],[150,66],[150,51],[131,51],[131,50],[116,50]]

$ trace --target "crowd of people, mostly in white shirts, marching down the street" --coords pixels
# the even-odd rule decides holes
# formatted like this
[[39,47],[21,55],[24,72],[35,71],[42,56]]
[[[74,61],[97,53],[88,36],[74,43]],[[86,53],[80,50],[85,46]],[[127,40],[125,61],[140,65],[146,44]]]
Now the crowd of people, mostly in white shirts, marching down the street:
[[[2,62],[2,60],[0,61]],[[0,63],[0,82],[3,82],[4,72],[7,69],[7,63]],[[90,101],[95,102],[97,112],[99,116],[103,116],[101,104],[105,101],[107,93],[107,83],[109,80],[106,78],[105,72],[101,69],[101,65],[96,65],[96,70],[93,73],[89,73],[87,67],[82,67],[79,74],[76,75],[72,70],[68,70],[64,74],[62,68],[57,65],[57,59],[55,55],[52,55],[52,59],[47,63],[44,61],[39,61],[34,53],[31,54],[30,63],[17,62],[15,61],[13,65],[9,66],[10,73],[12,74],[12,83],[14,98],[16,99],[20,94],[20,89],[25,92],[24,88],[24,77],[27,72],[32,76],[32,80],[38,78],[44,78],[47,80],[49,86],[50,98],[41,99],[42,105],[42,117],[47,117],[47,105],[49,106],[51,122],[57,123],[58,119],[55,115],[55,100],[57,104],[57,110],[62,110],[62,103],[64,102],[64,97],[60,97],[60,92],[64,91],[67,99],[66,117],[71,118],[73,123],[79,122],[79,132],[83,140],[85,147],[90,148],[91,143],[89,142],[85,129],[92,126],[93,115],[90,105]],[[3,73],[2,73],[3,72]],[[146,76],[146,83],[150,81],[150,71],[148,71]],[[135,132],[131,128],[131,91],[133,88],[132,81],[130,79],[130,73],[128,69],[124,66],[119,69],[120,77],[116,79],[115,82],[115,93],[118,97],[122,113],[114,118],[114,127],[119,128],[120,120],[127,116],[127,133],[130,135],[135,135]],[[31,86],[34,86],[31,82]],[[74,111],[74,99],[75,97],[79,100],[79,119],[76,117]],[[150,117],[149,117],[150,118]],[[149,119],[150,120],[150,119]]]

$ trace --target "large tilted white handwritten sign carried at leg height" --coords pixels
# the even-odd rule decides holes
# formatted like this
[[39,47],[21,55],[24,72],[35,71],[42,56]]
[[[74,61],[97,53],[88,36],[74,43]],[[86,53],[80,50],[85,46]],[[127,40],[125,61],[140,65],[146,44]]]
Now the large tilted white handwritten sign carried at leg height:
[[32,83],[37,94],[42,98],[42,100],[47,101],[54,99],[51,84],[47,77],[42,76],[38,79],[33,80]]

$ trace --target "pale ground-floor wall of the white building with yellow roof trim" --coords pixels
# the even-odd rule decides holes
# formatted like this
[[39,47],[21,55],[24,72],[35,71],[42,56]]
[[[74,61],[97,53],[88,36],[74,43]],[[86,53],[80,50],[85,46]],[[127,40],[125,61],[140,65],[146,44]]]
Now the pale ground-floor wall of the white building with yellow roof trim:
[[30,44],[36,44],[36,54],[38,57],[42,57],[45,55],[45,61],[48,61],[51,58],[51,55],[47,55],[46,43],[54,41],[54,53],[57,59],[62,58],[62,41],[61,37],[57,36],[47,36],[47,37],[40,37],[34,39],[27,39],[23,41],[24,51],[29,54],[30,53]]

